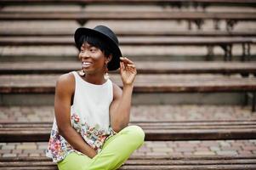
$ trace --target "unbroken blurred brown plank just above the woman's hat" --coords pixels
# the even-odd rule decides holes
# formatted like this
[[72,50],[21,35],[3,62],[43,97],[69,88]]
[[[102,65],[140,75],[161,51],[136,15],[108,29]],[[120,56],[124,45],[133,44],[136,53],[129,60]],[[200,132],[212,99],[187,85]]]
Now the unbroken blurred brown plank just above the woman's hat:
[[255,13],[205,12],[5,12],[0,20],[256,20]]

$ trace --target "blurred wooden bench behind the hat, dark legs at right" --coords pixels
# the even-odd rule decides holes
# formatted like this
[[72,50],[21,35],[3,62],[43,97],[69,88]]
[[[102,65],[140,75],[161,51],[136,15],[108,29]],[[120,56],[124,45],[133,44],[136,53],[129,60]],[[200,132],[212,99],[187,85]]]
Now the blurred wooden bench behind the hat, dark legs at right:
[[[250,59],[251,44],[256,37],[120,37],[120,45],[128,46],[207,46],[211,55],[213,46],[223,48],[225,60],[232,59],[232,46],[242,45],[242,60]],[[2,46],[74,45],[73,37],[0,37]]]

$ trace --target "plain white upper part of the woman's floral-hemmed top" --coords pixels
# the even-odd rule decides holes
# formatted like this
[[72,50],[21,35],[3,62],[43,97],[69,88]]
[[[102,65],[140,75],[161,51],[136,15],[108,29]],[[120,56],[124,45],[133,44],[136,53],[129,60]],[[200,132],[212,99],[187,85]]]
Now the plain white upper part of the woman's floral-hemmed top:
[[72,73],[76,79],[76,89],[71,113],[76,113],[89,127],[99,126],[107,131],[110,127],[109,108],[113,100],[111,80],[95,85],[84,81],[77,71]]

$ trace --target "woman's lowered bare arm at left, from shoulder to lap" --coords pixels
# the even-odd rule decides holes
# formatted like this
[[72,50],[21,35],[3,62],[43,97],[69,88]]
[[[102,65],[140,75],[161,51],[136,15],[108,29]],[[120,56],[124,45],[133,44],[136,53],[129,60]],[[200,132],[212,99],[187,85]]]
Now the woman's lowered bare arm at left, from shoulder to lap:
[[71,127],[71,96],[75,90],[73,75],[62,75],[56,84],[54,112],[59,133],[71,146],[83,154],[94,157],[96,152],[91,148],[77,131]]

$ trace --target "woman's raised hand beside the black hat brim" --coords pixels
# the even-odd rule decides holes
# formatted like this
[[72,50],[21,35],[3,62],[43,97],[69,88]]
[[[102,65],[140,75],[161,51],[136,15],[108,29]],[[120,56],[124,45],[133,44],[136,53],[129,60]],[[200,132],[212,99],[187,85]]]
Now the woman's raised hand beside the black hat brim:
[[137,74],[134,62],[126,57],[121,57],[120,59],[120,73],[123,86],[132,85]]

